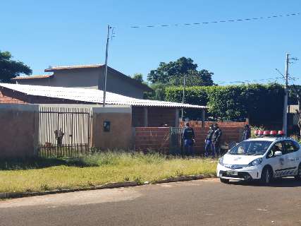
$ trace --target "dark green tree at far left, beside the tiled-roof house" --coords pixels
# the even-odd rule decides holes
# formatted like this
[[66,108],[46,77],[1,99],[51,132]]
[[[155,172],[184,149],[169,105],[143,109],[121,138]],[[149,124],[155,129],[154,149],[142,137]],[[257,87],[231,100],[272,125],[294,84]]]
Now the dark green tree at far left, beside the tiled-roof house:
[[20,76],[22,73],[28,76],[32,73],[29,66],[21,61],[14,61],[12,58],[10,52],[0,51],[0,81],[2,83],[10,83],[11,78]]

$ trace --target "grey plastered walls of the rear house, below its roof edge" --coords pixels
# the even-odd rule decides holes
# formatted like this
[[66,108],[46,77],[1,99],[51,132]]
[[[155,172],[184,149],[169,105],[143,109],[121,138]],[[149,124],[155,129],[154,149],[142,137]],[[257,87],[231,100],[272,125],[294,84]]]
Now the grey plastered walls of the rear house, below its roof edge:
[[[54,71],[51,78],[20,79],[21,85],[48,85],[68,88],[89,88],[104,90],[104,67],[92,69],[72,69]],[[137,86],[130,78],[122,78],[117,71],[108,69],[106,90],[128,97],[143,98],[144,90]]]

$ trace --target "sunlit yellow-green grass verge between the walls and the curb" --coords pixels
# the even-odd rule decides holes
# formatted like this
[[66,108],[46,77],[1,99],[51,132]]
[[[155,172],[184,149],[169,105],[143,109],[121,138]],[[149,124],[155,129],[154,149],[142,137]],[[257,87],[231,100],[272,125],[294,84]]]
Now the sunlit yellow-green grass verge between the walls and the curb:
[[109,182],[156,182],[160,179],[214,174],[216,160],[143,153],[98,153],[78,158],[0,162],[0,192],[49,191]]

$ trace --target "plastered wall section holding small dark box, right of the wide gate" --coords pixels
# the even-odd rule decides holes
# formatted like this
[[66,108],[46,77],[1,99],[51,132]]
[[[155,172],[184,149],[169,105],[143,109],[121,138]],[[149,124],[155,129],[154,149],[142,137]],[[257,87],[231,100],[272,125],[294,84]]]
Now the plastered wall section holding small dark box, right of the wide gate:
[[[92,108],[92,147],[128,150],[132,147],[132,110],[130,107]],[[110,121],[110,131],[104,131]]]

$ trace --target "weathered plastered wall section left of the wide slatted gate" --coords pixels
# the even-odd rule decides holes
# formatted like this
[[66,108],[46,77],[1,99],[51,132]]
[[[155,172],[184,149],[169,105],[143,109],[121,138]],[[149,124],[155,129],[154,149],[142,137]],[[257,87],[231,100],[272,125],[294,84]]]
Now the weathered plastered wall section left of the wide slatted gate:
[[0,105],[0,158],[37,155],[37,105]]

